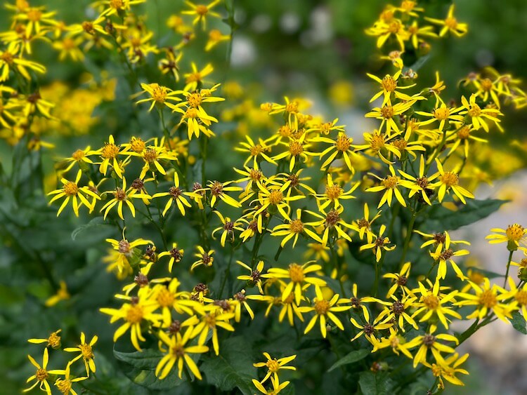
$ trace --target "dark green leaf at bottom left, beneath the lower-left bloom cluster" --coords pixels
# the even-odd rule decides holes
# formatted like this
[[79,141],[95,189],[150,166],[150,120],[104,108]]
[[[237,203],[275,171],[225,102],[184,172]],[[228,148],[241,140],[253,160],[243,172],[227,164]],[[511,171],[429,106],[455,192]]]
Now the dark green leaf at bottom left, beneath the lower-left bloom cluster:
[[155,367],[164,354],[155,349],[143,349],[142,352],[118,352],[113,350],[115,359],[119,361],[122,372],[132,382],[147,387],[148,389],[171,389],[185,382],[178,377],[177,368],[174,366],[171,372],[163,380],[155,376]]

